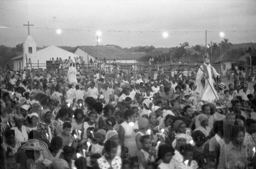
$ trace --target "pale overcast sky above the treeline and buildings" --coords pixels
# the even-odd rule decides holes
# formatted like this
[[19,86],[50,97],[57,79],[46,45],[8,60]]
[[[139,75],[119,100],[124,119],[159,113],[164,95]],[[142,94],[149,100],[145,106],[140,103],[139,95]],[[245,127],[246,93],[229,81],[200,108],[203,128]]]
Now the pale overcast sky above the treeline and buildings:
[[256,1],[0,1],[0,44],[23,43],[28,21],[39,47],[96,45],[97,31],[121,47],[204,45],[205,30],[207,43],[256,42],[255,18]]

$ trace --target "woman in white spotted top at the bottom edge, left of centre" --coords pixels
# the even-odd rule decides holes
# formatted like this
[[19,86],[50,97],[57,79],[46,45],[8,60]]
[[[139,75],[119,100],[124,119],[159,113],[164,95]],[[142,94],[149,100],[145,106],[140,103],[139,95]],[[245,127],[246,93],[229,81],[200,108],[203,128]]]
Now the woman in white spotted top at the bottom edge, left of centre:
[[94,169],[121,169],[121,158],[116,156],[117,144],[114,141],[107,140],[104,144],[105,154],[99,158]]

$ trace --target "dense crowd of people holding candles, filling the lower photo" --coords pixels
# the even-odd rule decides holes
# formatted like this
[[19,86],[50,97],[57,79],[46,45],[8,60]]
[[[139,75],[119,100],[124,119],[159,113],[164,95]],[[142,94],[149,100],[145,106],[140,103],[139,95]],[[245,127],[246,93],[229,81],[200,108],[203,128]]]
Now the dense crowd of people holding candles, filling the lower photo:
[[256,85],[219,79],[208,103],[197,70],[118,71],[1,71],[1,168],[256,167]]

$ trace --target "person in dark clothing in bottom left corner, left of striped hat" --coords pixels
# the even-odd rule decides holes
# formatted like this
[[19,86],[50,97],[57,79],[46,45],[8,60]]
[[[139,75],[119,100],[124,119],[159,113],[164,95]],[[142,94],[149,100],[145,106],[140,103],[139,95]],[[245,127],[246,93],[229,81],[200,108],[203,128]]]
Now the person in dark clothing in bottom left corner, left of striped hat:
[[14,130],[6,130],[4,133],[4,142],[1,144],[4,149],[4,158],[5,159],[5,167],[16,169],[17,163],[15,161],[15,155],[17,153],[18,148],[21,146],[21,143],[15,139],[15,131]]

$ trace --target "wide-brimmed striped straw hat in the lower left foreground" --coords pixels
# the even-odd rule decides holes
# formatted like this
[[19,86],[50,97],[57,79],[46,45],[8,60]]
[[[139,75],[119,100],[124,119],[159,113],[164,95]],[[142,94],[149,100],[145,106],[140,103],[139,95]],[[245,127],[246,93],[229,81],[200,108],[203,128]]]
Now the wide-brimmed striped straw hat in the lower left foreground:
[[48,149],[47,144],[44,141],[39,141],[38,139],[29,139],[26,143],[20,147],[20,150],[46,150]]

